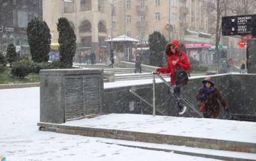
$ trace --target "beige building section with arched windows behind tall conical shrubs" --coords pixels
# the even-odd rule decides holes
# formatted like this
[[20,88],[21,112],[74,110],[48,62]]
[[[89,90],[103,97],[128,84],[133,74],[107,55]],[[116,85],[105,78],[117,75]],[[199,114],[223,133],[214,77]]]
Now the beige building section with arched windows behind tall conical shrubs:
[[52,43],[58,43],[58,19],[68,19],[77,38],[75,61],[90,52],[96,53],[97,61],[103,61],[108,54],[108,43],[104,41],[111,35],[109,8],[111,5],[105,0],[44,0],[43,20],[51,29]]

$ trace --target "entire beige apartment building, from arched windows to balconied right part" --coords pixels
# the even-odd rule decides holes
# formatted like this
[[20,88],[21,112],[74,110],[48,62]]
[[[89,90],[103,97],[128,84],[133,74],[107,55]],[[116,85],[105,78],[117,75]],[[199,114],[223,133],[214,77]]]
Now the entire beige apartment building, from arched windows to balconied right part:
[[126,34],[147,42],[154,31],[201,51],[204,44],[192,47],[191,43],[211,42],[204,4],[204,0],[44,0],[43,20],[57,43],[58,18],[66,17],[74,27],[78,53],[91,50],[106,55],[109,44],[104,41],[111,36]]

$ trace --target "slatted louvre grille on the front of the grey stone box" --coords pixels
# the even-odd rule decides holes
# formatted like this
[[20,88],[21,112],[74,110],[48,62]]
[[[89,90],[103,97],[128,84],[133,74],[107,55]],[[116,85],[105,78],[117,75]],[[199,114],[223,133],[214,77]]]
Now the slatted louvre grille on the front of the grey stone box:
[[100,114],[99,75],[65,75],[65,121]]

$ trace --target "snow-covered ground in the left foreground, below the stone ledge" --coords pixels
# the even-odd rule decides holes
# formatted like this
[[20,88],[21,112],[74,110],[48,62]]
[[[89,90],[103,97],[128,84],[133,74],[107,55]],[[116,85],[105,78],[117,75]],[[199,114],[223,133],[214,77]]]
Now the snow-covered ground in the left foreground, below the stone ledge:
[[39,95],[39,88],[0,89],[0,155],[8,161],[213,160],[104,143],[112,139],[39,131]]

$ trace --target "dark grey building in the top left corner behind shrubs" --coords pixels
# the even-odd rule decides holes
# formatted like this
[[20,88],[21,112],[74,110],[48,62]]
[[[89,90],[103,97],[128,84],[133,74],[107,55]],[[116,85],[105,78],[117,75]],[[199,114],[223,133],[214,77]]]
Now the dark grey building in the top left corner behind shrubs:
[[26,27],[33,17],[42,20],[42,0],[0,0],[0,51],[3,54],[10,43],[20,56],[30,53]]

